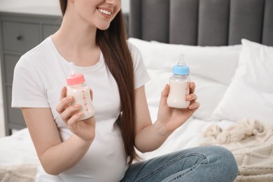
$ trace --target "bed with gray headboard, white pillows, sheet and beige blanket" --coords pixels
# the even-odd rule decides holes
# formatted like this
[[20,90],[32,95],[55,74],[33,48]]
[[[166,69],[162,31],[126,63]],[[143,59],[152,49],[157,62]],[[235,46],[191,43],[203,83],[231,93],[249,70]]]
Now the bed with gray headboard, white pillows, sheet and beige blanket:
[[[234,153],[236,181],[273,181],[273,1],[131,0],[128,41],[151,76],[153,120],[172,66],[184,54],[200,109],[148,159],[220,145]],[[27,128],[0,139],[0,179],[34,181],[38,158]]]

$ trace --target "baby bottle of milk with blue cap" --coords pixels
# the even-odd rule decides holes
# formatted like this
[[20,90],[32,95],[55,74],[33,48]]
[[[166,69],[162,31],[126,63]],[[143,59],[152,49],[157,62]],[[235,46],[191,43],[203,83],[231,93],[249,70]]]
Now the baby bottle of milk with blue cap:
[[184,55],[180,55],[179,63],[173,67],[173,74],[169,78],[169,95],[167,105],[172,108],[186,109],[190,101],[186,96],[190,94],[190,69],[186,66]]

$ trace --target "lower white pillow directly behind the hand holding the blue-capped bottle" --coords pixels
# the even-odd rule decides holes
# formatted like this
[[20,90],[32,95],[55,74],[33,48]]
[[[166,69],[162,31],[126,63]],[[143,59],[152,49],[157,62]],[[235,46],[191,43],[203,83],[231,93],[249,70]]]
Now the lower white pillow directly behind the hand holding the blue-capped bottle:
[[[172,73],[162,69],[147,69],[147,72],[151,77],[151,80],[145,85],[148,106],[158,108],[160,94],[165,85],[169,83],[169,76]],[[201,76],[191,75],[190,78],[195,82],[195,94],[197,94],[197,100],[200,103],[200,108],[193,116],[202,120],[213,120],[212,113],[223,98],[228,86]]]

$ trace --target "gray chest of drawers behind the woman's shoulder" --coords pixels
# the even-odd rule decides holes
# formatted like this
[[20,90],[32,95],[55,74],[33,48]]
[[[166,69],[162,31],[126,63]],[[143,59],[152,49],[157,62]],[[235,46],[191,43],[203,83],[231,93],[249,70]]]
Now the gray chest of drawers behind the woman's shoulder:
[[11,108],[13,70],[21,55],[41,43],[59,28],[62,17],[0,13],[0,54],[3,111],[6,135],[25,125],[20,109]]

